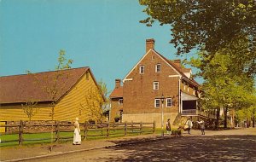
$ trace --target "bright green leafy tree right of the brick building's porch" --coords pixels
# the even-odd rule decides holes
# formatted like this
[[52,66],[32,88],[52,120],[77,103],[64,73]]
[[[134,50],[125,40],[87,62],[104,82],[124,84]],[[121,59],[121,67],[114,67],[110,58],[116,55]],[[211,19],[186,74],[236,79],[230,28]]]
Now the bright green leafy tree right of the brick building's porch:
[[[251,107],[256,100],[253,94],[253,78],[242,72],[242,68],[232,65],[232,55],[225,55],[226,50],[221,49],[203,67],[200,76],[205,79],[202,84],[202,105],[206,109],[217,109],[217,123],[219,110],[224,108],[224,127],[227,127],[227,113],[230,108],[239,110]],[[199,53],[199,57],[189,62],[194,67],[201,68],[201,62],[208,60],[209,56]]]

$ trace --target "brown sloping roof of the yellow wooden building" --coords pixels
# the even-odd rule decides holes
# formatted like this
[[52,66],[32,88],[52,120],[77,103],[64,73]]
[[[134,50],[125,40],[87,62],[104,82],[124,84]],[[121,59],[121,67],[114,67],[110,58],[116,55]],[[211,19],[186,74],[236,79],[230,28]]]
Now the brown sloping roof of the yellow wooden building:
[[[90,72],[89,67],[80,67],[0,77],[0,103],[58,101],[87,71]],[[57,72],[61,75],[56,75]],[[59,78],[56,79],[56,76]],[[55,97],[49,95],[47,92],[49,89],[57,90]]]

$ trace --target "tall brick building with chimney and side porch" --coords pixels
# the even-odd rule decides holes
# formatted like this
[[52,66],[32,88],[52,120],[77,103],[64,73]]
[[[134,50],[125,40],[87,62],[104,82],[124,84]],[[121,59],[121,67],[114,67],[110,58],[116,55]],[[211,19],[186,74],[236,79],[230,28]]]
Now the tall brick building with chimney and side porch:
[[160,55],[154,50],[154,39],[147,39],[146,54],[125,76],[123,86],[116,80],[110,95],[111,120],[119,115],[122,121],[155,121],[160,127],[162,111],[164,121],[171,119],[172,125],[188,116],[203,116],[197,106],[200,84],[191,74],[180,60],[171,61]]

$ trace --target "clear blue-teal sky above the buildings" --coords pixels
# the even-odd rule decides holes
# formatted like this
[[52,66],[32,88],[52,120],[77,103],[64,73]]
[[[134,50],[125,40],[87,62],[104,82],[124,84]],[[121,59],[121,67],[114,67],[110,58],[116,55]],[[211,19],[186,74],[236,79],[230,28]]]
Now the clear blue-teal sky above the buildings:
[[145,55],[145,41],[168,59],[171,26],[139,23],[147,18],[137,0],[0,0],[0,76],[55,69],[60,49],[71,67],[90,67],[97,81],[114,88]]

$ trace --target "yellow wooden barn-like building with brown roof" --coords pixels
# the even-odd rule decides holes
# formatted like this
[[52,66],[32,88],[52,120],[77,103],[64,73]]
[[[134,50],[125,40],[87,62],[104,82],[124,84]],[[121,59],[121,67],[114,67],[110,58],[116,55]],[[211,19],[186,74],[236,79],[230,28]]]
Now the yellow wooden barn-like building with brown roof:
[[54,120],[93,119],[84,108],[91,90],[98,90],[98,85],[89,67],[1,77],[0,121],[28,120],[24,107],[31,102],[37,110],[32,120],[51,120],[52,107]]

